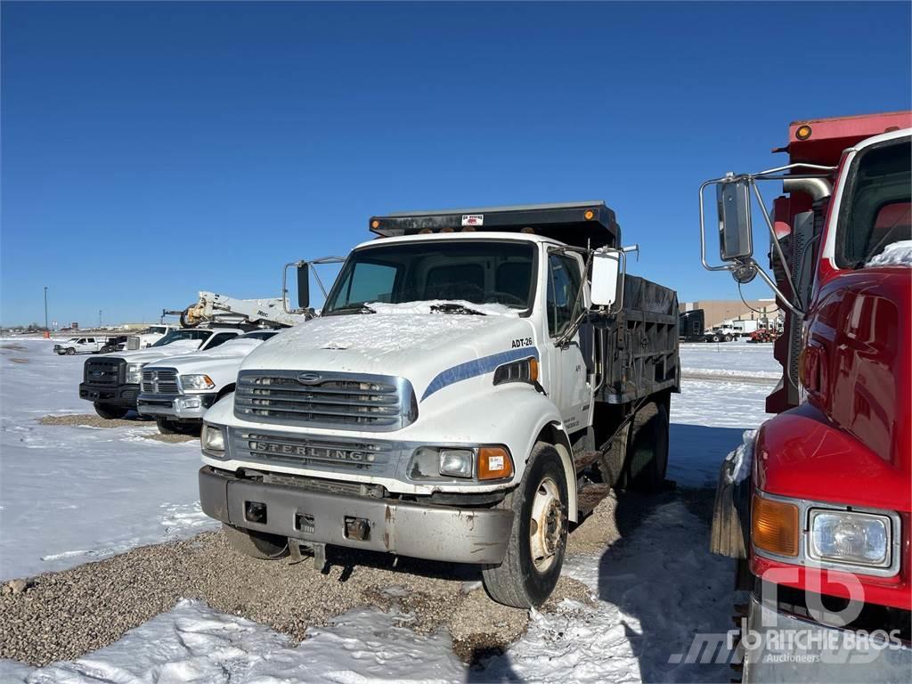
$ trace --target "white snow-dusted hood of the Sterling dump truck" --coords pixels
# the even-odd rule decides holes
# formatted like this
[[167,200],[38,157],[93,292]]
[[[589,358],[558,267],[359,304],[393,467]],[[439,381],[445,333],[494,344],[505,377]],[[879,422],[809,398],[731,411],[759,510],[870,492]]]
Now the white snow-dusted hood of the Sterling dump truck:
[[376,314],[316,318],[268,340],[241,369],[400,376],[421,397],[448,369],[533,344],[532,324],[506,306],[461,303],[486,314],[472,316],[432,313],[435,304],[369,304]]

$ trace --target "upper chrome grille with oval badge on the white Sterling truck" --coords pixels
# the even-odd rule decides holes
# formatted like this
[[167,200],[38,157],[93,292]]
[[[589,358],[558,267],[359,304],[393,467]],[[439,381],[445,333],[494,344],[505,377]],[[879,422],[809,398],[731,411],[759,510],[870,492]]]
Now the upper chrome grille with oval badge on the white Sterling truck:
[[234,415],[255,422],[399,430],[418,417],[418,402],[404,378],[246,370],[237,378]]

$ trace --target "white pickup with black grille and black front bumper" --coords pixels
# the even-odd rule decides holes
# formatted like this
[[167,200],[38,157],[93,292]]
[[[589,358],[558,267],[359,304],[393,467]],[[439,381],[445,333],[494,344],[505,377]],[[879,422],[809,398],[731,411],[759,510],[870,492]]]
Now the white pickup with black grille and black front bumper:
[[123,418],[136,409],[146,364],[212,349],[240,335],[244,335],[244,330],[235,327],[172,329],[151,347],[87,358],[79,397],[91,401],[101,418]]

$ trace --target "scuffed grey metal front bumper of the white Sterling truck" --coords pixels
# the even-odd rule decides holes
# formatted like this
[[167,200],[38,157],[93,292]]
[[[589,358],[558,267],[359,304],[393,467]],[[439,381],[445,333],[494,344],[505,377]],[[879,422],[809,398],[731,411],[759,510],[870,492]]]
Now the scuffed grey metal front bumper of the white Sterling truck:
[[[513,512],[400,502],[292,485],[243,480],[208,466],[200,470],[202,511],[216,520],[305,542],[451,563],[499,564],[506,554]],[[260,504],[261,520],[248,519]],[[355,538],[363,526],[367,534]]]

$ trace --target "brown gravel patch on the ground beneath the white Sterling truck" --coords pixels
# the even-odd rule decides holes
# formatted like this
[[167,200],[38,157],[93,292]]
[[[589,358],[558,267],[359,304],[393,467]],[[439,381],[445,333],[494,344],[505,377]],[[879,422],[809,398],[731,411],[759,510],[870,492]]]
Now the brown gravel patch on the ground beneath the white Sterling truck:
[[[129,422],[129,421],[128,421]],[[619,538],[609,497],[570,535],[571,553],[596,553]],[[450,630],[468,663],[502,652],[528,627],[528,611],[494,603],[472,565],[394,559],[389,554],[327,549],[329,566],[310,559],[259,561],[235,552],[222,532],[134,549],[126,554],[37,575],[0,595],[0,658],[31,665],[80,658],[107,646],[181,598],[268,625],[296,639],[358,606],[396,610],[420,633]],[[542,610],[570,598],[592,600],[562,577]]]

